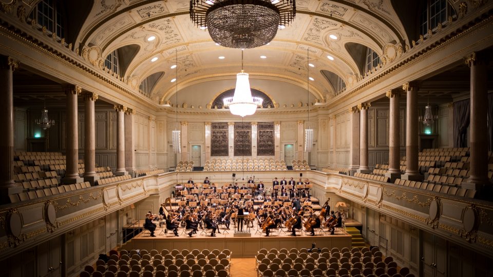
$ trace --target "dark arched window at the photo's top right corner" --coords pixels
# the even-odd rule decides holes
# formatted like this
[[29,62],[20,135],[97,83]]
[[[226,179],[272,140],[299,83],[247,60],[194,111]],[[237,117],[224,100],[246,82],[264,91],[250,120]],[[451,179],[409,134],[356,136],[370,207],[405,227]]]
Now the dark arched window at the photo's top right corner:
[[456,11],[447,0],[422,0],[420,11],[420,34],[425,36],[428,30],[435,30],[439,23],[445,25],[448,17],[457,17]]

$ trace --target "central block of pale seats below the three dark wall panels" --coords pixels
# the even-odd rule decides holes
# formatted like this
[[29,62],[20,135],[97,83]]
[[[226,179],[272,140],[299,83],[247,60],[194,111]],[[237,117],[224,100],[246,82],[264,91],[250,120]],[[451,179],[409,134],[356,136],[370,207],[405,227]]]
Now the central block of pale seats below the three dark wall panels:
[[204,171],[239,171],[239,170],[288,170],[284,160],[226,160],[205,161]]

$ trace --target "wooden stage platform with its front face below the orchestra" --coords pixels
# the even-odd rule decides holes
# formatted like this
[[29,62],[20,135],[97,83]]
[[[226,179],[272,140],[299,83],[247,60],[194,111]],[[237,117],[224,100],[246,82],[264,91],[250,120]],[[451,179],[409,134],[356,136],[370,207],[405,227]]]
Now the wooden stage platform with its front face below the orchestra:
[[[167,231],[166,234],[161,232],[161,228],[158,227],[155,231],[156,237],[150,236],[148,231],[144,231],[136,235],[133,239],[125,243],[121,249],[146,249],[148,251],[156,249],[230,249],[234,258],[253,257],[257,254],[257,251],[262,248],[310,248],[312,243],[315,243],[317,247],[329,249],[337,247],[339,249],[343,247],[351,248],[351,235],[344,233],[342,229],[335,232],[335,235],[330,235],[326,232],[315,232],[315,236],[311,236],[300,230],[296,231],[297,236],[290,236],[290,232],[284,228],[286,233],[282,231],[278,234],[277,230],[273,230],[270,236],[266,237],[265,233],[261,229],[257,232],[256,227],[251,228],[250,235],[248,237],[235,237],[234,230],[231,229],[224,233],[223,228],[220,229],[220,234],[216,233],[215,237],[210,236],[210,231],[207,231],[207,235],[202,233],[199,229],[197,234],[194,234],[192,238],[189,238],[182,229],[178,230],[180,236],[174,236],[173,231]],[[326,230],[326,229],[325,229]],[[247,233],[248,235],[248,233]]]

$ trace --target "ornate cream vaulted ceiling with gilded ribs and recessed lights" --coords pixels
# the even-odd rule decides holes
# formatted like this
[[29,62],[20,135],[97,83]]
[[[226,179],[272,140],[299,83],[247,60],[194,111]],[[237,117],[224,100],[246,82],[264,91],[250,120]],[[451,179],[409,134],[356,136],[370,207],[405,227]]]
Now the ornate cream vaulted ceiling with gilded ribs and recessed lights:
[[[334,96],[334,91],[320,70],[328,70],[344,78],[348,88],[361,77],[358,66],[345,48],[357,43],[383,55],[386,45],[405,43],[404,28],[390,0],[298,0],[297,14],[286,29],[279,30],[267,46],[247,49],[244,69],[251,80],[285,82],[307,88],[307,49],[310,93],[320,102]],[[100,59],[111,51],[138,45],[140,49],[128,65],[124,80],[138,88],[147,76],[164,71],[150,97],[156,102],[171,100],[175,94],[175,55],[178,60],[178,90],[198,93],[187,87],[218,82],[211,95],[224,89],[220,81],[235,80],[241,69],[239,49],[217,46],[207,31],[196,27],[188,14],[189,0],[99,0],[95,1],[78,36],[75,47],[97,49]],[[337,39],[329,37],[330,34]],[[155,36],[154,41],[147,41]],[[260,58],[261,55],[267,58]],[[334,57],[329,60],[327,56]],[[219,60],[219,56],[224,56]],[[158,57],[156,62],[151,58]],[[101,65],[101,63],[99,63]],[[268,87],[257,89],[269,93]],[[195,91],[195,92],[194,92]],[[298,90],[287,91],[295,97]],[[293,95],[291,95],[293,94]],[[273,99],[279,102],[279,99]],[[204,99],[203,105],[211,99]],[[291,103],[287,101],[287,103]]]

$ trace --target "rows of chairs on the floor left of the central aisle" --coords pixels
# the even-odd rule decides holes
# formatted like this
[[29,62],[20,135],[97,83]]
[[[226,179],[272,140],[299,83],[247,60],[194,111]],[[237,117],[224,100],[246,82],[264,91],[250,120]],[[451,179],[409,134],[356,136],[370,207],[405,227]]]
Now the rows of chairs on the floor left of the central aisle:
[[107,263],[96,262],[96,268],[87,265],[81,277],[227,277],[230,275],[231,251],[204,249],[192,251],[163,249],[110,251]]

